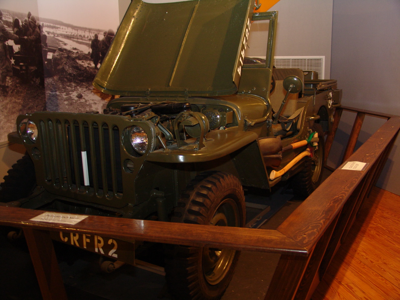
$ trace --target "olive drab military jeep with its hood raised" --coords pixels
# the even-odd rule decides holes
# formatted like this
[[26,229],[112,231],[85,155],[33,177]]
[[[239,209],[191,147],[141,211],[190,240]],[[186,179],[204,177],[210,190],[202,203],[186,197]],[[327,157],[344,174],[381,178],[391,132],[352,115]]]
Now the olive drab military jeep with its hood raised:
[[[253,8],[254,0],[133,0],[93,82],[120,98],[103,114],[19,116],[9,140],[28,156],[6,176],[2,201],[244,226],[243,186],[268,193],[290,180],[295,194],[308,196],[320,183],[341,91],[316,72],[273,68],[278,13]],[[268,22],[265,58],[247,57],[260,20]],[[170,293],[219,299],[238,256],[167,245]]]

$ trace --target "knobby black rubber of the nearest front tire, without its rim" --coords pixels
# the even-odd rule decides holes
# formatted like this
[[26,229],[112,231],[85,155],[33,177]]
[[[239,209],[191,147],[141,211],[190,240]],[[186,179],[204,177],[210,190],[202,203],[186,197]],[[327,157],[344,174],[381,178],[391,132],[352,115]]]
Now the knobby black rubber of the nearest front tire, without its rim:
[[[227,183],[231,187],[240,190],[244,199],[242,185],[232,174],[216,171],[203,172],[196,176],[182,193],[171,221],[206,224],[206,219],[214,203],[213,201],[216,200],[216,192]],[[239,209],[245,210],[244,200],[242,202],[242,208]],[[243,225],[244,220],[241,226]],[[170,293],[175,296],[176,300],[218,300],[223,295],[228,284],[222,286],[222,292],[218,296],[205,296],[202,293],[198,278],[198,260],[200,259],[200,255],[202,255],[202,248],[181,245],[165,246],[166,281]],[[238,256],[239,252],[235,255],[232,268],[236,265]],[[232,274],[233,270],[229,274],[230,278]]]

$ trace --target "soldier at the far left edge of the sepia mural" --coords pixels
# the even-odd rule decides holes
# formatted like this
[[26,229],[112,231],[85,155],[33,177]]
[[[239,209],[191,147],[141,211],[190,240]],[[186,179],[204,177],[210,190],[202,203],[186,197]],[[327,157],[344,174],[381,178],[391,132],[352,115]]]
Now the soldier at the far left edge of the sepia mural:
[[8,40],[18,40],[18,36],[9,32],[3,24],[3,12],[0,10],[0,87],[2,94],[7,94],[7,77],[12,76],[10,54],[6,46]]

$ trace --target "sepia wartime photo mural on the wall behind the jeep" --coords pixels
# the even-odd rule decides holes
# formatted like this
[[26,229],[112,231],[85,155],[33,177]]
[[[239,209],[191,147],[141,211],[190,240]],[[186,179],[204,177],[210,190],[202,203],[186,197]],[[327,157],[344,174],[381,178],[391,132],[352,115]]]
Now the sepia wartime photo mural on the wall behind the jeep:
[[[100,6],[102,13],[98,14],[97,10],[95,13],[93,7]],[[98,70],[93,65],[96,60],[90,57],[92,52],[96,54],[91,42],[95,33],[100,43],[106,28],[114,32],[118,28],[118,0],[87,0],[79,6],[79,13],[70,0],[0,0],[0,8],[4,14],[3,30],[7,34],[14,31],[19,36],[16,42],[2,36],[0,42],[2,65],[5,65],[5,57],[13,62],[8,60],[8,72],[3,72],[2,76],[4,79],[4,75],[8,76],[8,93],[3,96],[0,92],[0,142],[6,141],[7,134],[15,131],[15,120],[21,113],[103,111],[110,97],[92,86]],[[82,11],[85,18],[81,18]],[[99,15],[107,18],[99,18]],[[18,26],[15,26],[16,21]],[[8,56],[3,49],[5,40],[8,40],[5,42]],[[100,62],[100,48],[97,54]]]

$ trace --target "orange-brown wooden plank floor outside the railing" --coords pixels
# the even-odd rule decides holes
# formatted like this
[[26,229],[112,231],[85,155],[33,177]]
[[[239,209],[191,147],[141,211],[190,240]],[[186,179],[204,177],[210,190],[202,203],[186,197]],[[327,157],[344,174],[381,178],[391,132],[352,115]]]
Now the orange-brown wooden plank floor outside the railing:
[[400,299],[400,196],[374,187],[312,300]]

